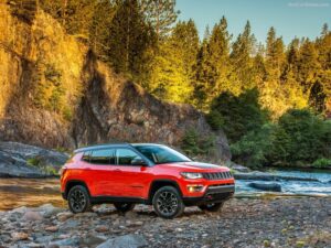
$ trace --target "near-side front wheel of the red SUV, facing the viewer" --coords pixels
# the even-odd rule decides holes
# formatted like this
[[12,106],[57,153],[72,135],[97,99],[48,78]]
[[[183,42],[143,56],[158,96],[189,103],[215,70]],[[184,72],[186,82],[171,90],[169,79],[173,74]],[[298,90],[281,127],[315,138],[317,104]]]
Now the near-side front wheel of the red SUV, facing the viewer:
[[179,191],[173,186],[163,186],[153,195],[154,212],[162,218],[174,218],[184,212],[184,204]]

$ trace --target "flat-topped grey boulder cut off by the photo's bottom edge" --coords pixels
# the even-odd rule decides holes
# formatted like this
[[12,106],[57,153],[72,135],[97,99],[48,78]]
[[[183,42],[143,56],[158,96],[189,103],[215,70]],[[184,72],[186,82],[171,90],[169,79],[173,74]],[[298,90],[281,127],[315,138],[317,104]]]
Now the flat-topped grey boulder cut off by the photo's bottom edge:
[[141,235],[125,235],[108,239],[97,248],[140,248],[146,246],[148,242]]

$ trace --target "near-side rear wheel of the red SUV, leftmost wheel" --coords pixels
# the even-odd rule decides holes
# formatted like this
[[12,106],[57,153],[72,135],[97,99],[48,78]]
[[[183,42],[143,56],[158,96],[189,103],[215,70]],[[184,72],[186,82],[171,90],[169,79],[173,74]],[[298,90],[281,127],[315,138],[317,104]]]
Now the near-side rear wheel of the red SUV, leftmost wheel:
[[73,186],[67,195],[68,207],[72,213],[84,213],[92,209],[88,191],[85,186]]

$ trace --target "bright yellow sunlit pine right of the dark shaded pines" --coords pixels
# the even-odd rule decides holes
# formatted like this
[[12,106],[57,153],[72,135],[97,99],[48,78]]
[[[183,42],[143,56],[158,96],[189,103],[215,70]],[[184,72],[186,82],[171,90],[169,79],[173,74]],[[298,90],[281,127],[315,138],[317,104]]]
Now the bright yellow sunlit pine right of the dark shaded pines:
[[179,22],[167,41],[159,45],[151,90],[174,103],[192,100],[199,36],[192,20]]

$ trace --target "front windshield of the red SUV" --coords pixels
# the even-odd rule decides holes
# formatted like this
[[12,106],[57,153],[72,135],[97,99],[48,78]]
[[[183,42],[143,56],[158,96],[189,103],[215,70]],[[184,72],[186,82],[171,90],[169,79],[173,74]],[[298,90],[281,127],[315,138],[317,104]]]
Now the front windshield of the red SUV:
[[192,161],[166,145],[135,145],[135,148],[156,164]]

